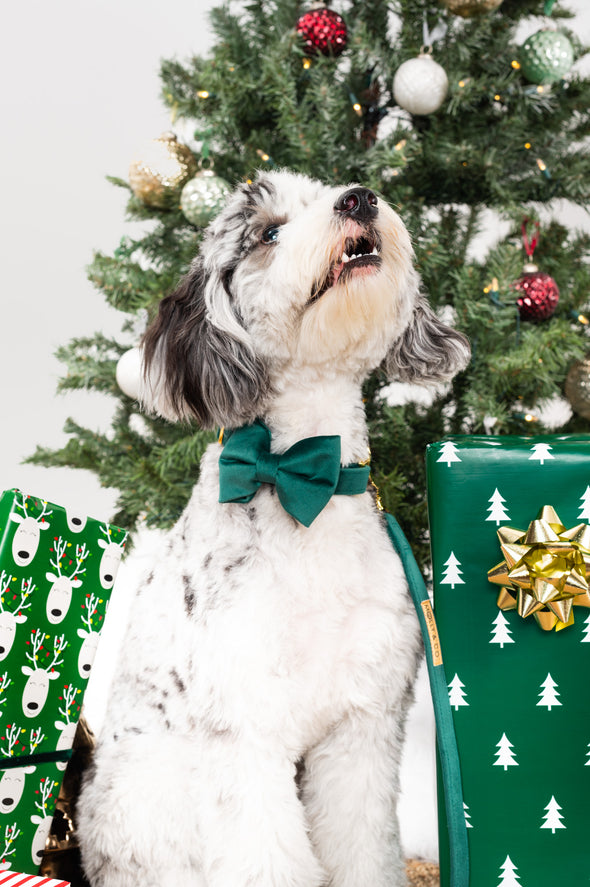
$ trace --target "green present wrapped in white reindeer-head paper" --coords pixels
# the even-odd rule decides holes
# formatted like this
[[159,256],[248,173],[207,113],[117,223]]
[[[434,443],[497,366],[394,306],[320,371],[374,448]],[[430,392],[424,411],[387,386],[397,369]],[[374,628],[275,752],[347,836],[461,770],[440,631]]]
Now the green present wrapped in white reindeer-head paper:
[[39,868],[126,539],[0,498],[0,871]]

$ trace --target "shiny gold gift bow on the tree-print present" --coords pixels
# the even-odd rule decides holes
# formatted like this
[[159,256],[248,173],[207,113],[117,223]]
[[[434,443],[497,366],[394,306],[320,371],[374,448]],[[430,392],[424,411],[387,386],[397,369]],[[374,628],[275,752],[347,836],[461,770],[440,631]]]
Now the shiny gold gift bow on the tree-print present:
[[551,505],[545,505],[525,531],[498,530],[504,560],[488,571],[501,585],[498,606],[534,616],[544,631],[561,631],[574,622],[574,606],[590,607],[590,526],[570,530]]

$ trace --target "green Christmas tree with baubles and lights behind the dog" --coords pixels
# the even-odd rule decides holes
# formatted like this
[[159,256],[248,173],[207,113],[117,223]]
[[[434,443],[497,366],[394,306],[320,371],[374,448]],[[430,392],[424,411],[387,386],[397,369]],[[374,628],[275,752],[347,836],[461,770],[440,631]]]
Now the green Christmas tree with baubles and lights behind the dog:
[[[123,236],[89,268],[121,311],[122,335],[79,338],[59,352],[60,390],[111,395],[112,428],[97,433],[70,420],[66,446],[40,447],[30,461],[96,472],[120,491],[120,525],[165,527],[178,517],[212,436],[141,414],[133,378],[123,381],[137,358],[130,344],[186,272],[227,188],[271,167],[331,185],[361,182],[395,205],[431,304],[472,342],[470,367],[427,398],[409,390],[400,403],[378,373],[366,385],[373,479],[421,561],[428,442],[489,430],[540,434],[543,405],[563,396],[568,378],[578,412],[555,430],[587,431],[580,367],[589,350],[590,238],[552,218],[556,201],[583,206],[590,195],[582,145],[590,80],[572,70],[585,49],[570,18],[565,0],[341,0],[329,14],[296,0],[213,9],[210,55],[162,64],[178,140],[159,143],[165,162],[146,158],[112,180],[129,190],[128,218],[145,222],[142,235]],[[540,29],[522,46],[519,28],[531,22],[557,30]],[[425,43],[432,53],[421,55]],[[475,240],[490,210],[507,234],[482,257]],[[539,219],[538,270],[523,276]]]

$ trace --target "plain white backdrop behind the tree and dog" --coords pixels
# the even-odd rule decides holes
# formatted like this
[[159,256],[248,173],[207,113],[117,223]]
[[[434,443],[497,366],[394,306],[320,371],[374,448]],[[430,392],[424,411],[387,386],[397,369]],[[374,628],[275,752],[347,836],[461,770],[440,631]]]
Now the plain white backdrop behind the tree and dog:
[[[92,429],[108,428],[106,398],[55,395],[63,367],[54,352],[73,336],[119,333],[119,313],[106,306],[84,270],[94,249],[110,252],[126,233],[125,192],[104,177],[125,178],[138,148],[169,127],[159,100],[159,60],[206,52],[206,11],[216,2],[33,0],[4,10],[0,490],[18,486],[101,520],[112,512],[115,494],[93,475],[21,460],[37,444],[63,445],[69,415]],[[570,0],[570,7],[589,43],[589,4]],[[530,25],[536,30],[540,22]],[[571,208],[561,214],[570,224],[585,221]],[[140,561],[141,545],[123,567],[128,578]],[[125,619],[125,595],[115,595],[86,697],[95,727]],[[418,695],[400,812],[407,852],[434,858],[432,715],[423,679]]]

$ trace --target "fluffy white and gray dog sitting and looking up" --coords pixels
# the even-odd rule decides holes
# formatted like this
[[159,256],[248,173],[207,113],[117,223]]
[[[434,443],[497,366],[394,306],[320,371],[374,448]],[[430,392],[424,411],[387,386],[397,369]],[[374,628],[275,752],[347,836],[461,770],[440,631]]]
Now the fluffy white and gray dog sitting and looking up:
[[135,592],[80,799],[92,887],[405,884],[396,796],[421,642],[403,570],[366,474],[303,522],[275,479],[306,438],[336,441],[338,471],[366,461],[376,367],[428,382],[465,366],[412,260],[372,191],[273,172],[237,189],[162,301],[144,402],[266,428],[270,455],[248,501],[221,503],[224,443],[207,449]]

